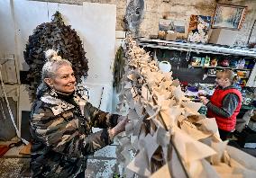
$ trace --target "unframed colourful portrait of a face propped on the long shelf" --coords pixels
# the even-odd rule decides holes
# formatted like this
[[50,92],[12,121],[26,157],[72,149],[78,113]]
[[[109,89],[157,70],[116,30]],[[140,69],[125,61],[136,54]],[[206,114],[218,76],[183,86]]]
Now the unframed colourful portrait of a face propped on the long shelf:
[[187,40],[206,43],[209,38],[211,16],[191,15]]

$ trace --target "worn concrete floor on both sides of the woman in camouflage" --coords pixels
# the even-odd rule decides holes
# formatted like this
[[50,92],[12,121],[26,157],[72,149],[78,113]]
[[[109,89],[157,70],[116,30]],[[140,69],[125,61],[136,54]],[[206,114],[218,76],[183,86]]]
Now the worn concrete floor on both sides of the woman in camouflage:
[[[29,156],[19,156],[21,147],[14,147],[0,158],[0,178],[31,177],[29,174]],[[118,172],[116,164],[115,146],[104,147],[95,156],[88,159],[86,177],[113,177]]]

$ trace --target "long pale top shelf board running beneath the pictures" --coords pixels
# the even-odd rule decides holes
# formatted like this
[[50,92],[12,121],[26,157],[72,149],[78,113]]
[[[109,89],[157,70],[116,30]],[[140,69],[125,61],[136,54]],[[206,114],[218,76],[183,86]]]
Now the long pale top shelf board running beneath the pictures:
[[221,55],[237,55],[244,57],[256,58],[255,49],[235,49],[228,48],[220,45],[192,43],[192,42],[178,42],[169,40],[152,40],[142,38],[138,43],[142,47],[155,48],[155,49],[175,49],[187,52],[197,53],[210,53],[210,54],[221,54]]

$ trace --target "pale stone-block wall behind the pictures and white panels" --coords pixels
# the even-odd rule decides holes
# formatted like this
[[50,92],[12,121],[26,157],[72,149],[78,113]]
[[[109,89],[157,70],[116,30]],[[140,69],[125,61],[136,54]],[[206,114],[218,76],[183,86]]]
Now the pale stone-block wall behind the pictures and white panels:
[[[83,4],[83,2],[116,4],[117,19],[116,31],[123,30],[123,16],[128,0],[41,0],[54,3]],[[157,34],[159,20],[163,14],[169,14],[169,18],[186,22],[186,31],[191,14],[211,15],[215,13],[216,2],[221,4],[236,4],[248,6],[245,21],[242,29],[236,36],[238,45],[247,44],[251,34],[250,42],[256,42],[256,27],[251,32],[253,22],[256,20],[256,1],[251,0],[144,0],[145,12],[144,19],[140,27],[141,36]],[[256,26],[256,25],[255,25]]]

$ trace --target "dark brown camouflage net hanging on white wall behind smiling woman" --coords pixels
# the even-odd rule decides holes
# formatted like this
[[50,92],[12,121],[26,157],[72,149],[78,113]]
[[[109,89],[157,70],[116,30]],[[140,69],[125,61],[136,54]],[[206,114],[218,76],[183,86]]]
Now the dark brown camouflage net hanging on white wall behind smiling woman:
[[30,67],[27,79],[31,85],[32,98],[35,98],[36,89],[41,83],[41,68],[46,61],[44,51],[47,49],[57,50],[61,58],[72,63],[78,82],[81,76],[87,76],[87,58],[82,41],[70,25],[64,24],[61,14],[56,12],[51,22],[44,22],[36,27],[23,52]]

